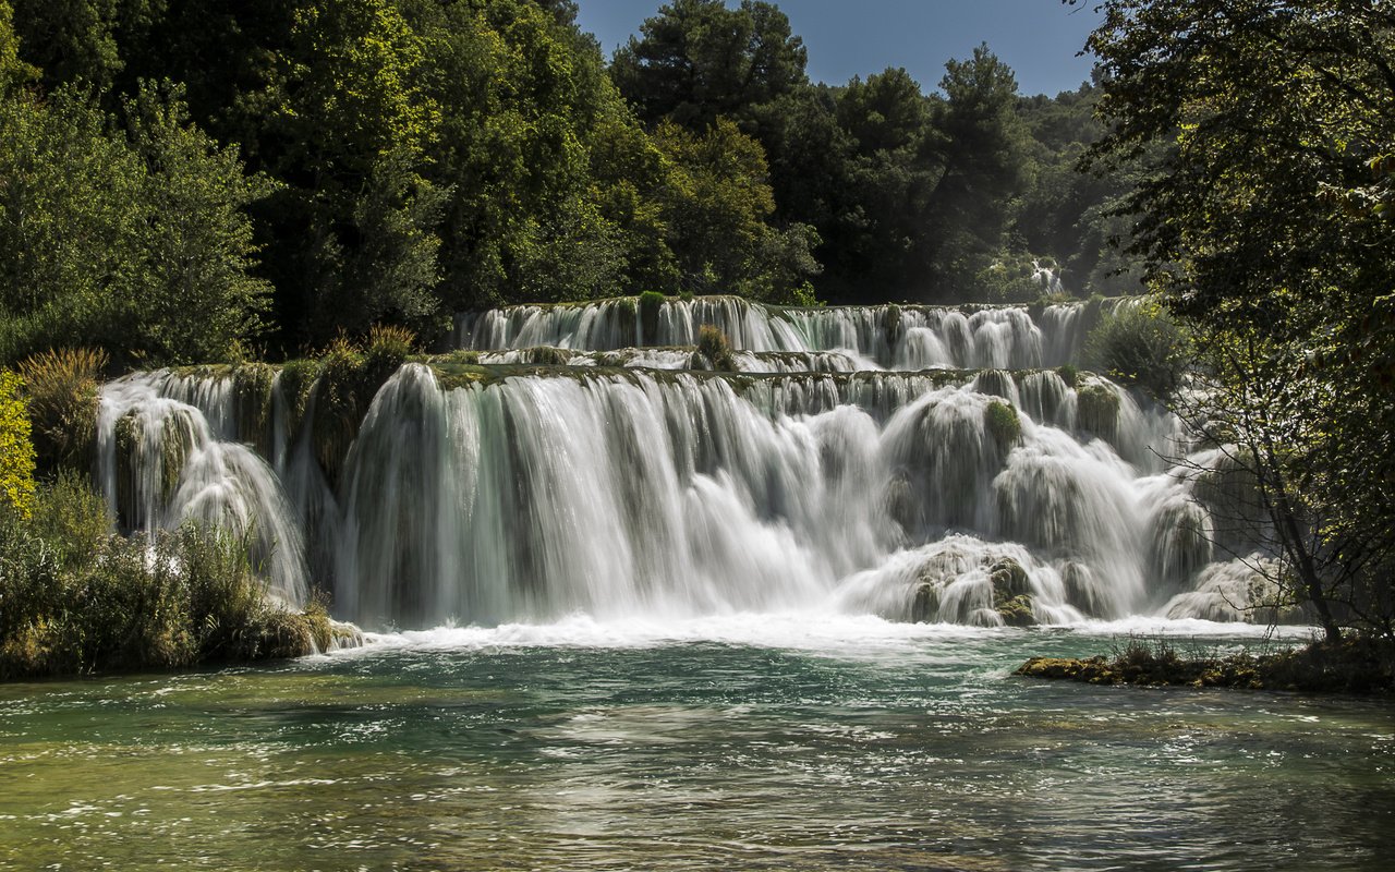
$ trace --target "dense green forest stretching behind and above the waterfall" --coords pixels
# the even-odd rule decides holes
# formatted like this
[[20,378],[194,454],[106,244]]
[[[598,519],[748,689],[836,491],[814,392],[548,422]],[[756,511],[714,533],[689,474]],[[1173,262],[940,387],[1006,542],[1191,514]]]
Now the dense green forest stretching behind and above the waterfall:
[[986,46],[937,93],[805,63],[762,0],[674,0],[608,66],[557,0],[0,0],[0,361],[644,290],[1030,300],[995,268],[1038,258],[1112,282],[1119,191],[1064,169],[1092,87],[1020,98]]

